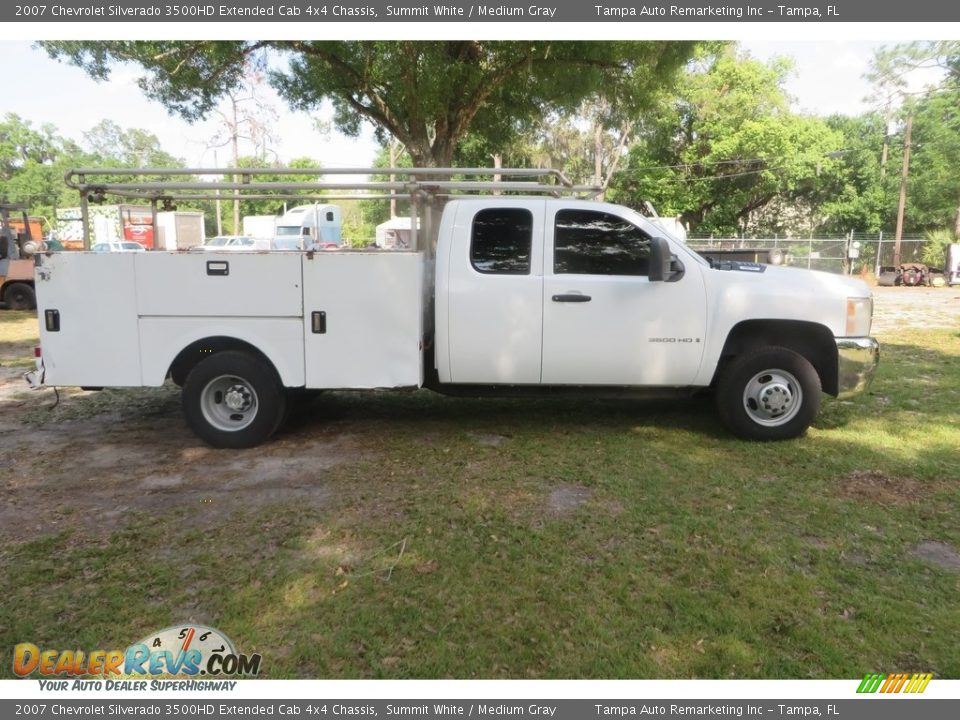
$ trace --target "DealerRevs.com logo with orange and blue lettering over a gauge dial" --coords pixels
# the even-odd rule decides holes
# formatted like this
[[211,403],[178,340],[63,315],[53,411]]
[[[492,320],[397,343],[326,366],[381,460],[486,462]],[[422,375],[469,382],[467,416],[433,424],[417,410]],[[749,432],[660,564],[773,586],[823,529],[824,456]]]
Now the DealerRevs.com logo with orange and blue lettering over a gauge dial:
[[253,677],[260,655],[238,653],[226,635],[205,625],[179,625],[151,633],[125,650],[56,650],[20,643],[13,672],[42,678]]

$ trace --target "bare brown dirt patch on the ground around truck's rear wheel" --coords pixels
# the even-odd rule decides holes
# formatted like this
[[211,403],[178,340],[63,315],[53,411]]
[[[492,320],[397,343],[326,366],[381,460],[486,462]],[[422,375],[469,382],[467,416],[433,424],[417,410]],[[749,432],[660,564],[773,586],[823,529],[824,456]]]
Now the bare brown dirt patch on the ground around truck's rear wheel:
[[166,397],[83,419],[18,422],[22,413],[49,404],[39,393],[0,402],[5,543],[71,529],[108,534],[144,516],[203,528],[276,503],[324,507],[326,473],[361,457],[352,436],[335,433],[281,436],[250,450],[210,448]]

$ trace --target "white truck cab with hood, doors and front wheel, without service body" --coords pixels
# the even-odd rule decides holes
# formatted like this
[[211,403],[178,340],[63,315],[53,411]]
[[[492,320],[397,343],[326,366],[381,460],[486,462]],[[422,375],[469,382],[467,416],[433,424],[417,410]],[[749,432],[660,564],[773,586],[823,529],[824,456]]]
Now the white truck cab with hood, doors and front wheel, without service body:
[[441,384],[712,388],[737,434],[785,439],[821,391],[869,382],[872,299],[847,277],[708,262],[627,208],[449,203],[440,227]]

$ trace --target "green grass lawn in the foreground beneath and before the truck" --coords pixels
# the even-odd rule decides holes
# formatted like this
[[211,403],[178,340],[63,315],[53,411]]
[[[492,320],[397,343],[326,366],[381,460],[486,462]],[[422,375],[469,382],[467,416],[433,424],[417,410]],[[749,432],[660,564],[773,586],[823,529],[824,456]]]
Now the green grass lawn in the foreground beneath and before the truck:
[[[195,620],[273,678],[960,677],[960,574],[913,551],[960,550],[960,334],[881,340],[870,394],[786,443],[732,439],[706,400],[323,396],[275,441],[359,448],[322,507],[3,548],[0,668]],[[150,411],[110,398],[66,417]]]

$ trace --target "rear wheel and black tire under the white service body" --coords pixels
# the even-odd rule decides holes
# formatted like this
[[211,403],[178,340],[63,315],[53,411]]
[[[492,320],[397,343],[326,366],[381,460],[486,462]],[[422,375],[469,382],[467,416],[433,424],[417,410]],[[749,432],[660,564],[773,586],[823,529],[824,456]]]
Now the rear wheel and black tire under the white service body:
[[259,445],[280,427],[286,407],[287,395],[273,366],[239,350],[201,360],[183,384],[187,424],[214,447]]

